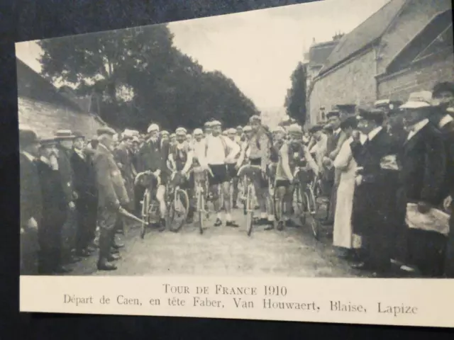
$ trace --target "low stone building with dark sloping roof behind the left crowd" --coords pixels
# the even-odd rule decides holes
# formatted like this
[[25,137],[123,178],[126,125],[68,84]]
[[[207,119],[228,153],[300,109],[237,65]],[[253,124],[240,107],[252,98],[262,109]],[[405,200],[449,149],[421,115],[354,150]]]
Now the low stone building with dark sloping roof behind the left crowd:
[[58,91],[55,86],[16,59],[18,81],[18,120],[33,128],[40,137],[52,137],[56,130],[79,130],[87,138],[106,125],[97,115]]

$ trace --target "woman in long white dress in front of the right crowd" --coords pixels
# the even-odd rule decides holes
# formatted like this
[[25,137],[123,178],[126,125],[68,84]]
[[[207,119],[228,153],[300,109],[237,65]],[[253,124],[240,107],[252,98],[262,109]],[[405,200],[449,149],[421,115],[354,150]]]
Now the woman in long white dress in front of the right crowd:
[[[341,249],[358,249],[360,238],[353,234],[351,222],[353,212],[353,195],[355,193],[356,164],[350,149],[353,130],[357,127],[358,120],[355,116],[345,118],[341,123],[341,128],[348,136],[341,147],[341,151],[333,162],[336,172],[340,174],[337,192],[337,205],[334,215],[333,245]],[[361,142],[366,140],[365,135],[361,135]]]

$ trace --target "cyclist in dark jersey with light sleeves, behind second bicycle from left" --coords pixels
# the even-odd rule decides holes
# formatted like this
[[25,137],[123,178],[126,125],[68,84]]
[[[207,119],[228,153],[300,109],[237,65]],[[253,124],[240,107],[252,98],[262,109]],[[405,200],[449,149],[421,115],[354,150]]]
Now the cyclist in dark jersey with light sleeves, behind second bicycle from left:
[[[172,187],[179,185],[180,188],[187,191],[189,197],[189,212],[188,212],[188,221],[191,222],[192,215],[194,214],[194,205],[192,198],[192,187],[189,185],[189,178],[187,176],[189,169],[192,166],[193,152],[187,142],[187,132],[184,128],[177,128],[175,130],[175,135],[177,136],[177,144],[170,148],[169,151],[169,163],[171,169],[176,171],[175,177],[172,179]],[[177,232],[178,230],[174,230]]]

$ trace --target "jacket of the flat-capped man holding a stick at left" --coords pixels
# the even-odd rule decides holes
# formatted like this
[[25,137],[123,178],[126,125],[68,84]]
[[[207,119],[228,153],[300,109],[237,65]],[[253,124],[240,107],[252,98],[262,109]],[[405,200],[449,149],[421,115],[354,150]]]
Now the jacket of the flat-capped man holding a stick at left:
[[96,171],[99,208],[116,210],[120,204],[128,204],[128,194],[114,155],[101,143],[96,147],[93,164]]

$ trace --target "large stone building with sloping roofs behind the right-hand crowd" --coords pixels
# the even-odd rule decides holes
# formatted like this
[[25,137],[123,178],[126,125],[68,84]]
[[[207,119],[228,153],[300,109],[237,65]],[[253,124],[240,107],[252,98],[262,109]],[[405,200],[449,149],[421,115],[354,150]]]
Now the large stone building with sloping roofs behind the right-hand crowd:
[[309,89],[309,119],[321,108],[405,101],[454,79],[451,1],[391,0],[341,38]]

